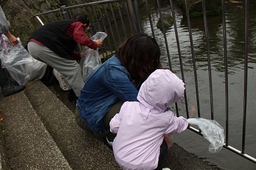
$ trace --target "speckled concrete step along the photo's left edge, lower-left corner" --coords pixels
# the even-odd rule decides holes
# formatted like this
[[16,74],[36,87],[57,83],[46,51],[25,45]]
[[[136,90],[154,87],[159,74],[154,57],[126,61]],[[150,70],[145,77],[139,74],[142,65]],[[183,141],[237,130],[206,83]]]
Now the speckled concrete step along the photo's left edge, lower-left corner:
[[0,96],[1,169],[72,169],[25,93]]

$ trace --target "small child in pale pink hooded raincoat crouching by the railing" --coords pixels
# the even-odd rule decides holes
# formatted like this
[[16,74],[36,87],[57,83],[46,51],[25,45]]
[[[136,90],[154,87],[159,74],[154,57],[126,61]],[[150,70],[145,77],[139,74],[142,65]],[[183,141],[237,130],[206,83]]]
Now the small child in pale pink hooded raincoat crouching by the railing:
[[138,101],[126,101],[112,118],[110,131],[116,162],[122,169],[162,169],[166,134],[187,129],[182,116],[167,108],[184,96],[184,83],[168,69],[157,69],[140,87]]

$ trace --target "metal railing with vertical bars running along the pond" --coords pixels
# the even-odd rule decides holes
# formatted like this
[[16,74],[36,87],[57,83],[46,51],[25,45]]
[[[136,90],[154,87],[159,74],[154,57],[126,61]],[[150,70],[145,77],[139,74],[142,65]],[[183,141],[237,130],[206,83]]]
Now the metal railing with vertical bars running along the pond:
[[[245,1],[245,52],[244,52],[244,87],[243,87],[243,133],[242,133],[242,145],[241,148],[235,148],[234,146],[229,145],[229,73],[228,73],[228,57],[227,57],[227,31],[226,31],[226,16],[225,16],[225,1],[221,1],[222,8],[222,37],[223,37],[223,53],[224,53],[224,87],[225,87],[225,144],[224,148],[231,150],[232,152],[241,155],[241,157],[245,157],[251,162],[256,163],[255,157],[252,157],[245,153],[245,133],[246,133],[246,117],[247,117],[247,94],[248,94],[248,1]],[[163,17],[162,17],[162,6],[161,1],[156,0],[155,6],[157,6],[159,10],[159,20],[163,26]],[[204,35],[206,40],[206,57],[208,62],[208,83],[209,83],[209,101],[210,101],[210,119],[215,119],[214,114],[214,104],[213,104],[213,80],[212,80],[212,68],[211,68],[211,59],[210,59],[210,45],[209,45],[209,36],[208,36],[208,17],[206,16],[206,2],[204,0],[202,3],[202,11],[203,11],[203,24],[204,24]],[[175,30],[175,39],[177,44],[177,54],[180,63],[180,75],[182,76],[182,80],[185,82],[184,69],[183,69],[183,59],[182,52],[180,51],[180,40],[179,40],[179,31],[177,29],[177,19],[176,13],[174,10],[173,0],[170,0],[170,15],[173,17],[173,28]],[[186,15],[189,16],[188,10],[188,2],[185,0],[185,8]],[[76,6],[61,6],[59,9],[50,10],[46,13],[39,13],[34,15],[41,24],[52,22],[54,20],[63,20],[72,17],[74,13],[77,12],[85,12],[90,17],[90,31],[86,34],[88,36],[95,34],[97,31],[105,31],[107,33],[107,41],[104,42],[104,48],[102,48],[101,52],[104,57],[109,57],[114,54],[114,50],[118,48],[119,43],[126,38],[129,34],[142,32],[144,31],[144,27],[142,25],[142,16],[140,14],[140,9],[145,8],[147,11],[147,15],[144,16],[144,20],[149,21],[149,34],[156,37],[156,34],[159,36],[159,31],[154,26],[154,21],[152,20],[151,9],[149,7],[149,1],[147,0],[105,0],[105,1],[95,1],[93,3],[83,3]],[[147,19],[145,19],[145,17]],[[197,75],[197,67],[196,67],[196,55],[194,52],[194,40],[193,34],[191,30],[191,19],[187,17],[187,29],[189,34],[189,42],[191,47],[191,61],[193,65],[193,73],[194,73],[194,85],[196,95],[196,106],[197,106],[197,116],[201,118],[201,104],[199,100],[199,89],[198,89],[198,75]],[[169,42],[166,36],[166,28],[163,26],[163,30],[161,31],[161,39],[164,41],[163,50],[166,50],[166,57],[168,59],[168,69],[173,70],[172,68],[172,57],[170,56]],[[184,92],[184,107],[187,113],[187,118],[189,118],[189,104],[187,101],[187,90]],[[177,104],[175,104],[176,113],[179,115],[179,109]],[[195,127],[189,127],[191,131],[196,132],[197,134],[201,134],[200,129],[196,129]]]

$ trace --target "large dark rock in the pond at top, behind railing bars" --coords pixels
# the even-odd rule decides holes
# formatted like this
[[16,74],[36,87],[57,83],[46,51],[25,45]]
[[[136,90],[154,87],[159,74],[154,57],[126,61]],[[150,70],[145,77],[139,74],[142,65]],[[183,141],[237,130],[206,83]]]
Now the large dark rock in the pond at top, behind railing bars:
[[[217,15],[222,12],[221,0],[206,0],[206,15]],[[187,0],[190,17],[203,15],[201,0]],[[177,5],[182,10],[183,16],[187,17],[185,0],[177,0]]]

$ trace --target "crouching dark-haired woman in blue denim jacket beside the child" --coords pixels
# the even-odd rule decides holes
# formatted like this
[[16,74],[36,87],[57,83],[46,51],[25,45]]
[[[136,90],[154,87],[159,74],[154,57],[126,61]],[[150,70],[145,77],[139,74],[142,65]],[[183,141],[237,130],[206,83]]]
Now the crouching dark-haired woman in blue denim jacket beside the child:
[[[154,38],[135,34],[124,41],[116,55],[107,59],[87,78],[76,103],[76,122],[95,134],[109,130],[110,120],[125,101],[137,101],[140,85],[161,69],[161,51]],[[109,141],[114,135],[109,133]]]

